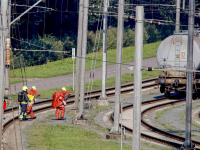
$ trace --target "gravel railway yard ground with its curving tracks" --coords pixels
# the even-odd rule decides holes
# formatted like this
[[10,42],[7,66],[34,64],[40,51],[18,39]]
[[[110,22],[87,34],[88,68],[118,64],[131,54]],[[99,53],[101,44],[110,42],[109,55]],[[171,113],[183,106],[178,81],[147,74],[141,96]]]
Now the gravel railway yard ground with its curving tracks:
[[[185,97],[171,93],[170,99],[164,97],[164,94],[159,92],[156,84],[156,79],[143,81],[143,96],[142,96],[142,125],[141,125],[141,148],[142,149],[179,149],[184,142],[185,134]],[[122,124],[126,128],[127,140],[123,142],[131,145],[132,124],[133,124],[133,83],[126,84],[121,87],[121,103],[123,103],[123,119]],[[85,109],[85,117],[89,120],[88,125],[74,125],[72,120],[75,115],[70,109],[74,103],[74,96],[68,100],[66,107],[66,120],[56,121],[55,110],[51,108],[51,100],[41,100],[33,107],[37,115],[36,120],[29,119],[26,122],[18,121],[17,108],[7,109],[4,112],[4,135],[3,142],[5,149],[20,149],[21,139],[23,137],[23,148],[33,149],[29,145],[28,135],[32,131],[35,124],[44,125],[67,125],[78,126],[87,130],[100,134],[106,137],[109,130],[113,126],[112,113],[114,109],[114,87],[106,90],[108,95],[109,106],[97,106],[96,99],[100,95],[100,91],[91,93],[91,109]],[[86,98],[86,103],[90,102]],[[192,111],[192,141],[196,148],[200,148],[200,100],[193,101]],[[13,121],[13,118],[16,118]],[[121,120],[121,118],[120,118]],[[9,122],[9,123],[8,123]],[[8,123],[8,124],[7,124]],[[120,122],[121,123],[121,122]],[[100,125],[100,126],[99,126]],[[17,130],[18,129],[18,130]],[[20,130],[23,136],[20,135]],[[28,130],[27,130],[28,129]],[[113,141],[113,140],[112,140]],[[120,142],[120,141],[116,141]],[[130,148],[131,149],[131,148]]]

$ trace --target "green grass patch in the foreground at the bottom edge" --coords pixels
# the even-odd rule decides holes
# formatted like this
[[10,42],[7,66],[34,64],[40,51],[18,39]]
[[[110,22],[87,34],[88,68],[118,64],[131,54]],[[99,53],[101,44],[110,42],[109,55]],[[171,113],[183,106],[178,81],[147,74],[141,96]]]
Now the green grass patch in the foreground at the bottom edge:
[[[113,150],[120,149],[120,143],[106,141],[92,131],[64,125],[39,125],[27,130],[29,150]],[[123,149],[131,146],[123,144]]]

